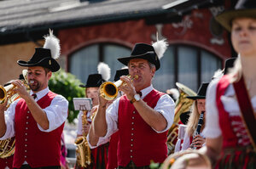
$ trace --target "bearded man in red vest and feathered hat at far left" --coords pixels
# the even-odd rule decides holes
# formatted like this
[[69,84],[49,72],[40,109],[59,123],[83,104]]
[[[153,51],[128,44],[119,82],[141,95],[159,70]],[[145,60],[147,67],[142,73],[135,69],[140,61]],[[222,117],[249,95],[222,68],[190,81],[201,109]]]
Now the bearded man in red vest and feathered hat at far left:
[[21,99],[6,109],[0,104],[0,139],[15,136],[14,168],[61,168],[61,133],[67,120],[68,102],[63,96],[49,91],[48,82],[60,69],[55,59],[60,55],[59,40],[45,37],[44,48],[36,48],[29,61],[18,60],[27,68],[30,93],[20,80],[12,82]]

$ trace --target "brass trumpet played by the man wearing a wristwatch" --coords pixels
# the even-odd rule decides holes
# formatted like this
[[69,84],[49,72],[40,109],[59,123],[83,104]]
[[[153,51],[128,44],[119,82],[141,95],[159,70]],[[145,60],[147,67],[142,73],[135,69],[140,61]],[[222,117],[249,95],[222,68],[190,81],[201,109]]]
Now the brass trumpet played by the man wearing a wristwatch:
[[[131,79],[131,81],[137,78],[138,76],[136,75]],[[122,80],[119,80],[117,82],[103,82],[100,86],[100,93],[102,95],[102,98],[107,100],[115,99],[118,95],[118,87],[120,87],[121,85],[123,85]]]

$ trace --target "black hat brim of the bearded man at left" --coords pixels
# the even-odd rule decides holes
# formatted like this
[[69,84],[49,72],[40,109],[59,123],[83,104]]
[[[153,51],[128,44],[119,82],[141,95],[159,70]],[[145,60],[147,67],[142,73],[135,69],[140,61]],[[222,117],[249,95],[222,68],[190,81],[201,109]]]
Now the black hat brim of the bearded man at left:
[[20,66],[26,66],[26,67],[32,67],[32,66],[42,66],[46,67],[52,72],[55,72],[57,70],[60,70],[61,66],[58,64],[58,62],[55,59],[52,58],[44,58],[38,61],[37,63],[29,63],[24,60],[18,60],[18,65]]

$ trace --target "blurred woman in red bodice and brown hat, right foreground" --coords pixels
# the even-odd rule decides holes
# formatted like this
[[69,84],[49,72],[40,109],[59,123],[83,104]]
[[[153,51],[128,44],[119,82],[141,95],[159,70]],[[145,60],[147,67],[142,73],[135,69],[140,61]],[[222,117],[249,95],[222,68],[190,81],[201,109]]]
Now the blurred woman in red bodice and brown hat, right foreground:
[[214,168],[256,168],[256,3],[239,0],[216,17],[238,54],[227,75],[207,89],[207,146]]

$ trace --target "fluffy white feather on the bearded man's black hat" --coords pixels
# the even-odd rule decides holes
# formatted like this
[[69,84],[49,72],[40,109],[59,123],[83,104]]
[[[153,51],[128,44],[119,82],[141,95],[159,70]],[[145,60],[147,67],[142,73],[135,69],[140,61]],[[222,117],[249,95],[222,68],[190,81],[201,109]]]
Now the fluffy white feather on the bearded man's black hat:
[[53,59],[58,59],[61,53],[60,40],[54,36],[53,31],[49,29],[49,35],[44,37],[44,47],[49,48]]

